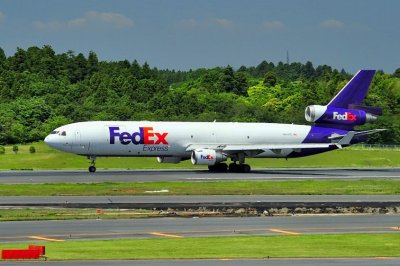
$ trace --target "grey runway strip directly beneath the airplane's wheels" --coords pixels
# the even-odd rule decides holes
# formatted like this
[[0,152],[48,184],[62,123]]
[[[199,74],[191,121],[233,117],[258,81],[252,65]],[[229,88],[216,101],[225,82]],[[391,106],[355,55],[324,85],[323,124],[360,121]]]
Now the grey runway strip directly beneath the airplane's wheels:
[[1,171],[0,183],[92,183],[167,181],[263,181],[307,179],[400,179],[400,168],[255,169],[250,173],[210,173],[206,170]]

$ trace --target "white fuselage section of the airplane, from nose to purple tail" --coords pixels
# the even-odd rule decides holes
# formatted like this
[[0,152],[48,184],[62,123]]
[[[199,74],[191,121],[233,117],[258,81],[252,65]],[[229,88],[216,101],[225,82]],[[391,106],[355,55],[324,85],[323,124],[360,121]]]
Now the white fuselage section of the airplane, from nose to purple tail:
[[[57,128],[45,139],[54,148],[87,156],[190,158],[190,145],[300,144],[311,126],[223,122],[80,122]],[[286,157],[293,149],[265,150],[255,157]]]

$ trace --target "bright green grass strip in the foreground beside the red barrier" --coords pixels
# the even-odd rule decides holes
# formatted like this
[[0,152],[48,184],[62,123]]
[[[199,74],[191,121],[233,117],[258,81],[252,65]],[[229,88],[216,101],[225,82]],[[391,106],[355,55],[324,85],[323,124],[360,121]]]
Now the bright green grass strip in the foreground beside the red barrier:
[[[400,234],[126,239],[40,243],[49,260],[397,257]],[[26,243],[0,248],[26,248]]]

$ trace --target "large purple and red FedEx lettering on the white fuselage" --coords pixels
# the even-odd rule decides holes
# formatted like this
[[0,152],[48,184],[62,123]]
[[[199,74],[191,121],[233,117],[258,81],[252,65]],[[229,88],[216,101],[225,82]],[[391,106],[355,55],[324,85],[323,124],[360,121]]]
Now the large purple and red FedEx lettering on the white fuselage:
[[166,137],[168,133],[153,132],[153,127],[139,127],[138,132],[119,132],[119,127],[108,127],[110,131],[110,144],[115,144],[115,138],[118,138],[122,145],[130,143],[134,145],[167,145]]

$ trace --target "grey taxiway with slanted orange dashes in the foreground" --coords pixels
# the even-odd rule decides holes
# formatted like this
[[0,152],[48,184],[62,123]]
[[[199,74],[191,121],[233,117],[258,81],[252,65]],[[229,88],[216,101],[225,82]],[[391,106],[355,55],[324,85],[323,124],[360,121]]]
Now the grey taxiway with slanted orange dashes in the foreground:
[[400,232],[399,215],[1,222],[0,242]]

